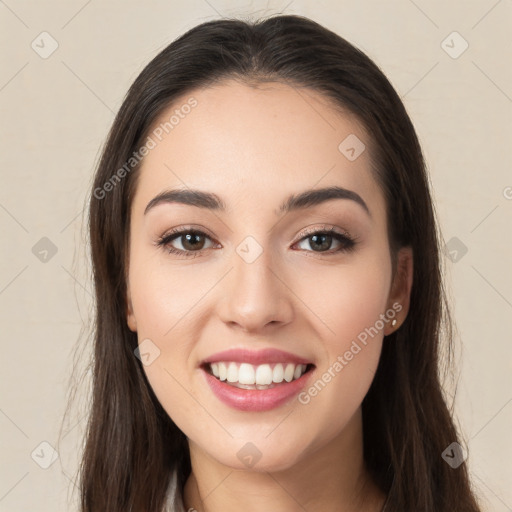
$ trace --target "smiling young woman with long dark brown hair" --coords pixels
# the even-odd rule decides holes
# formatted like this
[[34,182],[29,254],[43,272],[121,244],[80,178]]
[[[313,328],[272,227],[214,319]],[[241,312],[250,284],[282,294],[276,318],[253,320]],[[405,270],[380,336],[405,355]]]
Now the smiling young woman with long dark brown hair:
[[170,44],[114,121],[90,238],[83,511],[479,510],[422,152],[347,41],[276,16]]

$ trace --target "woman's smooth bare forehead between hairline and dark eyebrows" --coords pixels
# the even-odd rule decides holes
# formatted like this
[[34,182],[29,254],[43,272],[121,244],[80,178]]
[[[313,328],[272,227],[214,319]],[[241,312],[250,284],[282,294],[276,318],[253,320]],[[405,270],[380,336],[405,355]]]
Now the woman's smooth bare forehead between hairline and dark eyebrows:
[[329,186],[383,206],[363,126],[311,89],[234,80],[195,89],[157,118],[149,136],[134,207],[144,209],[164,189],[194,188],[225,197],[228,210],[268,203],[275,211],[290,193]]

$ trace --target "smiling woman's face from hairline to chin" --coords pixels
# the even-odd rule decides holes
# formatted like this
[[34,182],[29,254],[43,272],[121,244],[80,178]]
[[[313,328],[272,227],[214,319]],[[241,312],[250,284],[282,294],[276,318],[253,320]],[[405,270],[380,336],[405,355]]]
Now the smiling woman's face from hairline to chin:
[[407,312],[367,135],[312,90],[226,81],[183,96],[150,137],[127,309],[149,382],[207,456],[291,467],[359,418]]

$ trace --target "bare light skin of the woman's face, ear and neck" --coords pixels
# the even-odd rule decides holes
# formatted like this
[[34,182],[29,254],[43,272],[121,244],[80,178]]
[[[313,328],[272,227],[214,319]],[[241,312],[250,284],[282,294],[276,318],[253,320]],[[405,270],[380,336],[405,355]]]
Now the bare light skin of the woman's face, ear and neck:
[[[318,92],[233,80],[190,92],[155,126],[190,96],[197,106],[140,169],[127,276],[128,325],[139,343],[149,338],[160,350],[144,370],[189,439],[186,509],[379,512],[385,495],[364,465],[361,402],[384,336],[407,314],[412,255],[401,249],[392,275],[384,196],[369,150],[352,162],[338,150],[349,134],[368,148],[368,136]],[[333,185],[359,194],[371,215],[349,199],[278,214],[290,194]],[[172,188],[214,192],[228,210],[166,203],[144,214],[153,197]],[[208,234],[200,256],[156,245],[181,226]],[[334,252],[340,243],[333,239],[322,252],[303,234],[326,226],[357,238],[353,251]],[[250,264],[236,251],[247,236],[263,250]],[[191,252],[184,237],[171,245]],[[278,348],[312,361],[314,383],[394,303],[402,306],[398,323],[370,338],[306,405],[292,399],[265,412],[232,409],[198,366],[229,348]],[[252,468],[237,457],[247,442],[262,454]]]

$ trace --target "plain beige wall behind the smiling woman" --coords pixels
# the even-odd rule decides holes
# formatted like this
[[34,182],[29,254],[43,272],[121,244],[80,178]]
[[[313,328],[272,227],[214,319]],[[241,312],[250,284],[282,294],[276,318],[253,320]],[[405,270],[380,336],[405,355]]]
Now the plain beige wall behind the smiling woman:
[[[279,11],[309,16],[367,52],[415,123],[444,240],[467,248],[445,261],[469,467],[484,510],[512,510],[508,0],[0,1],[0,510],[76,510],[80,407],[60,442],[59,428],[91,300],[83,205],[123,95],[159,50],[199,22]],[[47,58],[43,31],[58,44]],[[453,31],[463,39],[443,43]],[[46,261],[43,237],[57,249]],[[48,469],[40,465],[52,450],[42,442],[58,448]]]

